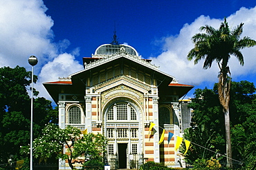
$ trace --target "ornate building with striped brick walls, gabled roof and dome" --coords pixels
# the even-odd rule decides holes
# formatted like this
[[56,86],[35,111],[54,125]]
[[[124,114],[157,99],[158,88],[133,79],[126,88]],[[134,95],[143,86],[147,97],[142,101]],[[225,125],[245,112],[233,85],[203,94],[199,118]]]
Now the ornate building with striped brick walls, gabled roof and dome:
[[[100,45],[83,62],[84,70],[44,83],[59,105],[60,127],[104,134],[111,169],[178,162],[174,138],[169,145],[167,134],[161,145],[158,141],[163,128],[174,136],[183,131],[179,99],[193,86],[177,83],[129,45]],[[149,136],[150,123],[155,126]]]

